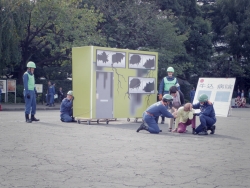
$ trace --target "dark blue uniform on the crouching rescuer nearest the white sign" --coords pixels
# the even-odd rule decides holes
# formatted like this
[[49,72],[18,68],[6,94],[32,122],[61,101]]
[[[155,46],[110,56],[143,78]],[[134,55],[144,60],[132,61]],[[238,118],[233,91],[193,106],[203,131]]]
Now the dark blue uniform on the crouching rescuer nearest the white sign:
[[213,104],[208,104],[205,102],[203,105],[200,103],[193,104],[193,109],[200,109],[200,125],[195,129],[196,133],[202,132],[206,127],[208,130],[211,130],[211,127],[216,122],[215,111]]

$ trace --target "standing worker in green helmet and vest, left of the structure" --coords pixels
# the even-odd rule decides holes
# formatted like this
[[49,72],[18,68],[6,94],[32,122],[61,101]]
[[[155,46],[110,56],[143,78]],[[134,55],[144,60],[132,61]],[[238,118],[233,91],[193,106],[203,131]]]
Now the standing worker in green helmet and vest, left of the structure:
[[[29,61],[27,63],[27,71],[23,74],[25,120],[27,123],[32,123],[32,121],[39,121],[39,119],[35,118],[36,114],[36,88],[35,88],[35,76],[34,76],[35,68],[36,64],[32,61]],[[31,118],[29,118],[30,113],[31,113]]]

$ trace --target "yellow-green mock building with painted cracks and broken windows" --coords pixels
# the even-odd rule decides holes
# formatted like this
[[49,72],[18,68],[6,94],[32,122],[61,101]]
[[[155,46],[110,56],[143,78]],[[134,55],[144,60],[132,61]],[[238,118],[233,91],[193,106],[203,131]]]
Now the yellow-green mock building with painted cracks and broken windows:
[[157,52],[73,48],[74,117],[142,117],[145,109],[157,101],[157,69]]

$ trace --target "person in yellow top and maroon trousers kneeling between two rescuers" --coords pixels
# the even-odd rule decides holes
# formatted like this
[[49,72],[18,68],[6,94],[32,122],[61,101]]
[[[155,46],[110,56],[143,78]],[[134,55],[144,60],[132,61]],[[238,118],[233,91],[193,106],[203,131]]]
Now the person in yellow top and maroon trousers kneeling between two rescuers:
[[194,110],[191,103],[186,103],[180,107],[177,111],[177,117],[175,119],[175,129],[173,132],[185,133],[187,126],[192,124],[193,133],[195,132],[195,117]]

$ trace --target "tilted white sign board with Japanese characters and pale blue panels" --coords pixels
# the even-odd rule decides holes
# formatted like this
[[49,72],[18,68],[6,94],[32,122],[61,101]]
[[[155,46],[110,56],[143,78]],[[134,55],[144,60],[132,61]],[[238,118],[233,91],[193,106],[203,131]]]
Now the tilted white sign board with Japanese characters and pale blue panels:
[[235,78],[199,78],[193,104],[198,103],[198,97],[206,94],[214,104],[216,116],[227,117],[231,108],[231,99]]

